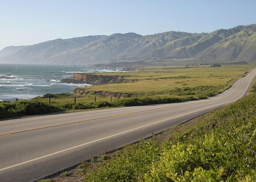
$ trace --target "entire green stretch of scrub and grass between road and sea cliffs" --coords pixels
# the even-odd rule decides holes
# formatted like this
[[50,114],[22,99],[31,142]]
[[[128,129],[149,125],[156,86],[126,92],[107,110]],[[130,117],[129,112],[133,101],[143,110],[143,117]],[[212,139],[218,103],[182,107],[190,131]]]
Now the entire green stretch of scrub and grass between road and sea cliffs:
[[[212,67],[146,67],[142,73],[128,73],[135,83],[103,84],[81,88],[89,95],[45,94],[31,100],[0,102],[0,119],[15,116],[45,114],[49,112],[126,107],[206,99],[226,90],[252,69],[252,65]],[[150,73],[148,73],[150,72]],[[109,74],[109,73],[106,73]],[[117,73],[114,73],[117,74]],[[127,74],[127,73],[125,73]],[[122,97],[96,96],[97,89],[108,92],[125,92]],[[101,90],[102,91],[102,90]],[[127,98],[124,98],[127,96]],[[76,97],[76,103],[74,103]],[[51,103],[49,104],[49,98]]]

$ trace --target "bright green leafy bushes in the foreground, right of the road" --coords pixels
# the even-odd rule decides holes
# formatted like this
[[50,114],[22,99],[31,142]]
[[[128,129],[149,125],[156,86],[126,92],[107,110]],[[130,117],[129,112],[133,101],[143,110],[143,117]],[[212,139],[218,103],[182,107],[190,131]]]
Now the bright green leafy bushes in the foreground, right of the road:
[[84,181],[255,181],[256,94],[218,111],[188,136],[154,137],[98,167],[85,165]]

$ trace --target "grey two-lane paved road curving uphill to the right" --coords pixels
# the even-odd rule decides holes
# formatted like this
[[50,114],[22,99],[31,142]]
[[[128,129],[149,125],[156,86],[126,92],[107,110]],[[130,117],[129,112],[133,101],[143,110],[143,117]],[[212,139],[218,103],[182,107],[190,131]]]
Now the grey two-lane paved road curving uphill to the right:
[[256,69],[217,96],[0,121],[0,181],[34,181],[232,103]]

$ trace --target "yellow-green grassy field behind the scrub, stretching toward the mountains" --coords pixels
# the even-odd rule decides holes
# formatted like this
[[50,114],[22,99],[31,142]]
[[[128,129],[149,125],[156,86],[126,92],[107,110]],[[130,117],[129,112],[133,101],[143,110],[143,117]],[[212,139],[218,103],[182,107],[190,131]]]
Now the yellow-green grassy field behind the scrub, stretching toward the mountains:
[[[229,87],[233,80],[251,70],[253,65],[222,67],[145,67],[139,73],[123,73],[125,79],[136,79],[134,83],[102,84],[80,87],[81,93],[94,94],[101,91],[122,93],[126,96],[201,96],[215,95]],[[106,73],[113,75],[113,73]],[[120,75],[120,73],[115,73]]]

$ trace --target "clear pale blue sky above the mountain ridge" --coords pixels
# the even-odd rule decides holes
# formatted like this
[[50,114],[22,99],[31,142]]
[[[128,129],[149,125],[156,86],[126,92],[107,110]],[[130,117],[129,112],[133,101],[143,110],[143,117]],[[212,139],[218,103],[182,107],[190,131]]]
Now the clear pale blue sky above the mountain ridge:
[[0,0],[0,50],[135,32],[212,32],[256,23],[256,0]]

